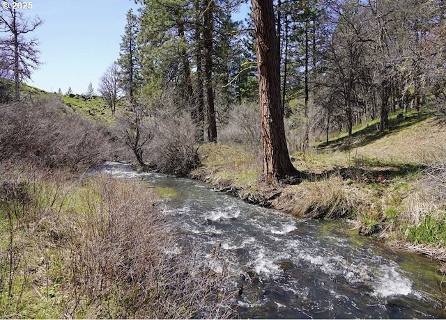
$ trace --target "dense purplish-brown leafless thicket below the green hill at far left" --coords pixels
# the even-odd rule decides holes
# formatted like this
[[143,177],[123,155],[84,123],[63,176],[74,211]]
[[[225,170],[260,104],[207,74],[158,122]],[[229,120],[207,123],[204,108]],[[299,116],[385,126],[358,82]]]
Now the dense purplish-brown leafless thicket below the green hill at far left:
[[32,161],[50,168],[84,170],[106,157],[104,131],[80,115],[63,113],[54,99],[0,108],[0,160]]

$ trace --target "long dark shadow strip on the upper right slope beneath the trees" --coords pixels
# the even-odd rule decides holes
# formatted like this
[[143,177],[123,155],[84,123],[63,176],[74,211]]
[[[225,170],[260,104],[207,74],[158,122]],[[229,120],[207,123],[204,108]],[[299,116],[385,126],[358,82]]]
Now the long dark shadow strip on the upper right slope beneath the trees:
[[407,129],[408,127],[426,120],[429,116],[430,115],[426,113],[417,113],[406,118],[393,118],[389,120],[389,129],[378,131],[376,125],[370,125],[362,130],[356,131],[351,136],[345,136],[334,141],[329,141],[328,143],[323,143],[318,146],[318,149],[324,150],[330,148],[340,151],[352,150],[356,147],[374,143],[380,138],[395,134],[403,129]]

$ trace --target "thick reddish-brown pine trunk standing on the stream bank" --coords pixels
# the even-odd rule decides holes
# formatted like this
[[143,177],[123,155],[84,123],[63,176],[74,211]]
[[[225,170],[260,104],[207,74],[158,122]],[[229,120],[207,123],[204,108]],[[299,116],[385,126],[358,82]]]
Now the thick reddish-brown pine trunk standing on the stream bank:
[[256,33],[257,70],[263,175],[268,182],[298,175],[289,158],[280,103],[280,63],[272,0],[252,0]]

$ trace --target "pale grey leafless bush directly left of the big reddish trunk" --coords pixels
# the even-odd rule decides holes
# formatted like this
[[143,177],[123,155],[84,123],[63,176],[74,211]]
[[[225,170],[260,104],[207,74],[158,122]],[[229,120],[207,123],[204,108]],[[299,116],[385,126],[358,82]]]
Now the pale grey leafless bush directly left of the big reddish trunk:
[[229,111],[227,125],[220,131],[220,141],[261,145],[259,106],[243,102]]

